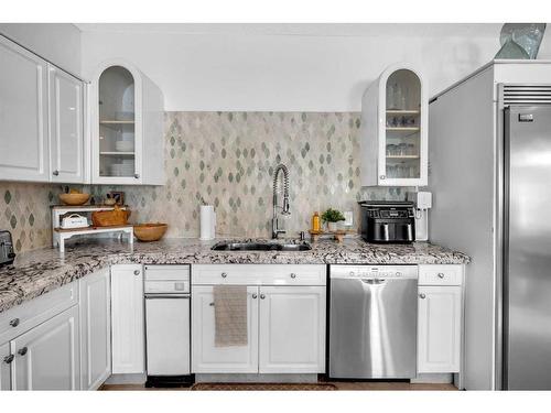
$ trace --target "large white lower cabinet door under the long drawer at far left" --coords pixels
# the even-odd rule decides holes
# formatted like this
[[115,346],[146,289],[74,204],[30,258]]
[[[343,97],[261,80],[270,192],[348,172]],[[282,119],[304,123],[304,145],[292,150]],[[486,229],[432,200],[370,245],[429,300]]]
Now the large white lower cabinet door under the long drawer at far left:
[[80,362],[78,306],[10,343],[12,390],[78,390]]

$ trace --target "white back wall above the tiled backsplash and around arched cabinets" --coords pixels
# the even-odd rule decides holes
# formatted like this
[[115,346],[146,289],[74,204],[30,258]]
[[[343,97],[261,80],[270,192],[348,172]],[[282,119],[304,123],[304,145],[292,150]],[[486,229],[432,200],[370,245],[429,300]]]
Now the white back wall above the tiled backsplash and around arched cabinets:
[[493,58],[500,24],[80,24],[83,73],[134,63],[166,110],[357,111],[388,65],[419,64],[433,95]]

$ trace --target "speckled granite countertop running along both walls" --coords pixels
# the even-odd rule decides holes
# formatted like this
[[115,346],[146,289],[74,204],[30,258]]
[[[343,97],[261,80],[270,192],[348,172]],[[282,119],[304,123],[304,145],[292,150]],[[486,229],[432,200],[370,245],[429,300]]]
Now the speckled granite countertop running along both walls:
[[[219,240],[217,240],[219,241]],[[464,253],[429,242],[374,244],[360,238],[343,243],[321,240],[311,251],[213,251],[215,241],[166,239],[136,242],[86,240],[57,249],[21,253],[13,265],[0,268],[0,313],[111,264],[462,264]]]

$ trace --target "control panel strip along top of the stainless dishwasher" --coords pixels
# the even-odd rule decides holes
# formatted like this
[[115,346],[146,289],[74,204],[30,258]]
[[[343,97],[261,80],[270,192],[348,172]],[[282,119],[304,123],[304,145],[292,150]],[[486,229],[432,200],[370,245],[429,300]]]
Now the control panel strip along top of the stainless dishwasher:
[[332,279],[417,279],[418,265],[331,265]]

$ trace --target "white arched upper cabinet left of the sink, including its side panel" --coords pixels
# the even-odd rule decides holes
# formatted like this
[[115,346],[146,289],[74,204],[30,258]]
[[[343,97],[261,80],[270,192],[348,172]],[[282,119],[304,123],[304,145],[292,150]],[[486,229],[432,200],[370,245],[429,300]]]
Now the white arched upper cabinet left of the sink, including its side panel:
[[163,95],[132,65],[110,61],[94,80],[94,184],[163,185]]

